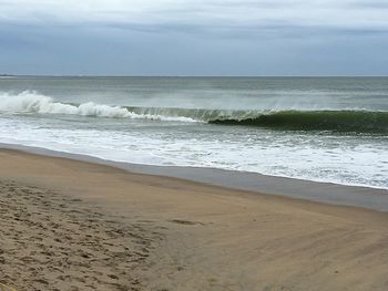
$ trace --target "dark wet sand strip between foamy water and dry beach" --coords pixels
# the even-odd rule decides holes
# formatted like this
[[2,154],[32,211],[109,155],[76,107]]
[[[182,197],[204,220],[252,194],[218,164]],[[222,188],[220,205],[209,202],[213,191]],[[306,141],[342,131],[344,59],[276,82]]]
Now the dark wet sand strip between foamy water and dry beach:
[[0,143],[0,150],[20,150],[41,156],[80,160],[111,166],[133,174],[155,175],[187,181],[212,185],[235,190],[275,195],[329,205],[361,207],[388,212],[388,189],[313,181],[288,177],[268,176],[258,173],[217,168],[155,166],[113,162],[99,157],[64,153],[17,144]]

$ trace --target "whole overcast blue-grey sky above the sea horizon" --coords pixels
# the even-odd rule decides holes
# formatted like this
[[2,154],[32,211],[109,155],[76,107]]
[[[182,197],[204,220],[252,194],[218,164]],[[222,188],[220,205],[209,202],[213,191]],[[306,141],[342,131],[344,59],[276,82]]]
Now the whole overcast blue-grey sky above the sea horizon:
[[0,0],[0,73],[388,75],[387,0]]

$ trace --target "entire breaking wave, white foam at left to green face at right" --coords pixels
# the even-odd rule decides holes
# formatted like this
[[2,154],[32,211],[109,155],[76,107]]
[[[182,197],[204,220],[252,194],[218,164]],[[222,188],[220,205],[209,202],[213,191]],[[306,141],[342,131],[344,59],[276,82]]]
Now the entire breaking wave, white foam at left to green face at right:
[[93,102],[67,104],[25,91],[0,94],[0,112],[73,114],[81,116],[197,122],[218,125],[256,126],[289,131],[337,131],[388,133],[388,112],[363,110],[231,111],[177,107],[112,106]]

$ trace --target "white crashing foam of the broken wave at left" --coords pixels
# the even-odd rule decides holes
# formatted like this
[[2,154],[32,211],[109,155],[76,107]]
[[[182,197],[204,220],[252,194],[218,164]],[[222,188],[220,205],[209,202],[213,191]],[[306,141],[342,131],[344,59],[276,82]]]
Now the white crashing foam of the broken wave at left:
[[72,114],[81,116],[155,119],[167,122],[196,122],[183,116],[163,116],[137,114],[120,106],[95,104],[86,102],[80,105],[64,104],[53,101],[52,97],[35,92],[24,91],[20,94],[0,94],[0,112],[7,113],[39,113],[39,114]]

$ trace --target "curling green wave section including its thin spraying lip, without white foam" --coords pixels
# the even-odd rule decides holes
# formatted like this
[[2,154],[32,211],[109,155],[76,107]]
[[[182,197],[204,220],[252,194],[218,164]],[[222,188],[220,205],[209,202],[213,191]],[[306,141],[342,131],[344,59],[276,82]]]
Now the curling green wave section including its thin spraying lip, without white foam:
[[185,116],[218,125],[255,126],[289,131],[388,133],[388,112],[346,111],[225,111],[127,107],[145,115]]

